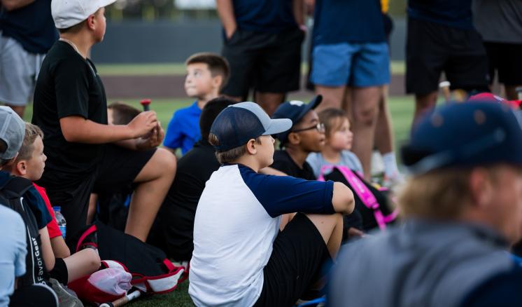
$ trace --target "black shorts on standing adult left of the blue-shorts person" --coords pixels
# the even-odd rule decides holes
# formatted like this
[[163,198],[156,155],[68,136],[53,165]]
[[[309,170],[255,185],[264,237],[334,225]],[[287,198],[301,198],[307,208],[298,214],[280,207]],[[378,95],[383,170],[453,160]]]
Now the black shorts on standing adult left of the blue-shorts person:
[[299,90],[303,39],[297,27],[279,33],[237,29],[223,45],[223,57],[230,64],[223,94],[246,98],[250,88],[261,93]]

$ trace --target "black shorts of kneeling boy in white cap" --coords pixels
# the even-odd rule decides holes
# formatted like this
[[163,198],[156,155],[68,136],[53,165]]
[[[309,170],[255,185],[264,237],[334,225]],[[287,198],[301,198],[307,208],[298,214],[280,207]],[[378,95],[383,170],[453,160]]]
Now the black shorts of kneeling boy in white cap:
[[63,186],[49,186],[43,183],[52,205],[62,207],[62,214],[67,222],[68,245],[69,239],[74,238],[74,235],[87,223],[90,193],[94,190],[118,192],[120,189],[125,189],[134,182],[154,153],[155,149],[132,151],[107,144],[104,148],[104,157],[92,174],[78,176],[71,182],[64,182]]

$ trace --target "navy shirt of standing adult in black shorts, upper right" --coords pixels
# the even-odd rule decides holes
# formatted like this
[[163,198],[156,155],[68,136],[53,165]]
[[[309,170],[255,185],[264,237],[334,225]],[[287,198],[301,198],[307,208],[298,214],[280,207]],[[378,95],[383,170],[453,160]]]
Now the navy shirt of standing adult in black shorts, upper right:
[[408,16],[449,27],[473,28],[472,0],[409,0]]

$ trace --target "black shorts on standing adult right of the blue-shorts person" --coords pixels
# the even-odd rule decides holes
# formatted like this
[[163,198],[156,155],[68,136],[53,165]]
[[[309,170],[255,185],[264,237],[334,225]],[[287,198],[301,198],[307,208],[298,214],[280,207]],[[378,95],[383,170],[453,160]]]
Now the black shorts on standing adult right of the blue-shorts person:
[[408,19],[406,91],[438,90],[442,71],[451,88],[488,91],[488,64],[481,36],[474,30]]

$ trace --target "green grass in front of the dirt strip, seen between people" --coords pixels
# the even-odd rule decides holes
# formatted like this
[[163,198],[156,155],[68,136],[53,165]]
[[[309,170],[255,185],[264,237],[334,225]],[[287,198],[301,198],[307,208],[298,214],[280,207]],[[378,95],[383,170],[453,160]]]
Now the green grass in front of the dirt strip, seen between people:
[[[310,97],[290,97],[291,99],[300,99],[305,102],[309,100]],[[109,99],[108,102],[113,102],[116,100],[120,100],[118,98]],[[127,104],[131,104],[134,107],[141,109],[139,104],[139,99],[135,100],[120,100]],[[190,98],[164,98],[164,99],[155,99],[150,105],[151,109],[157,112],[157,117],[162,123],[164,128],[167,127],[169,120],[177,109],[182,107],[187,107],[192,103]],[[407,139],[407,135],[409,132],[409,126],[411,124],[411,118],[413,118],[413,110],[414,110],[414,99],[413,97],[404,96],[404,97],[390,97],[389,100],[390,112],[392,115],[393,128],[395,132],[395,144],[396,149],[399,148],[400,144]],[[24,119],[26,121],[31,121],[32,116],[32,105],[26,109],[24,114]],[[153,306],[194,306],[188,295],[188,281],[183,282],[178,289],[174,290],[169,294],[155,295],[150,297],[144,297],[137,299],[129,303],[127,306],[129,307],[137,307],[137,306],[145,306],[145,307],[153,307]]]

